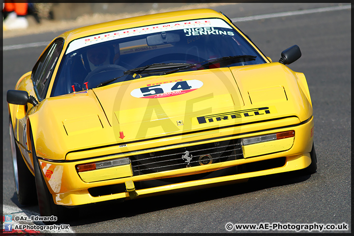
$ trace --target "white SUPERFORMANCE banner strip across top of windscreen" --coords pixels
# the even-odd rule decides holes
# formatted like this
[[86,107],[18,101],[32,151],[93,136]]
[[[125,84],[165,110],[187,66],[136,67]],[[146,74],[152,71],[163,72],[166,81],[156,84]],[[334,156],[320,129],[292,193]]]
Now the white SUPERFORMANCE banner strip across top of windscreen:
[[[122,29],[122,30],[105,32],[101,34],[90,35],[87,37],[75,39],[72,42],[70,42],[66,50],[66,54],[71,53],[77,49],[84,48],[89,45],[93,45],[101,42],[107,42],[118,38],[125,38],[125,37],[131,37],[136,35],[144,35],[149,33],[157,33],[157,32],[177,30],[177,29],[193,29],[192,31],[194,33],[191,33],[191,35],[203,34],[203,32],[199,31],[199,30],[202,31],[202,29],[206,34],[222,34],[219,33],[218,30],[214,30],[214,28],[216,27],[232,29],[231,26],[229,26],[225,21],[221,19],[200,19],[200,20],[179,21],[179,22],[164,23],[159,25],[144,26],[144,27],[131,28],[131,29]],[[187,31],[186,33],[188,34],[189,33],[188,31],[191,30],[186,30],[186,31]],[[227,34],[231,35],[230,33]]]

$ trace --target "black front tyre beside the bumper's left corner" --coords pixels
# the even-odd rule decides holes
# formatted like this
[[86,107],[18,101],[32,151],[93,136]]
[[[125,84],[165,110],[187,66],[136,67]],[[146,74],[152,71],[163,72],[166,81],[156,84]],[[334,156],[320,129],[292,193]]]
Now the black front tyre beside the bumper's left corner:
[[39,167],[38,157],[36,156],[32,132],[30,133],[32,144],[33,168],[35,185],[37,189],[39,212],[41,216],[57,216],[57,221],[43,221],[45,224],[55,224],[67,220],[68,208],[56,205],[53,201],[53,195],[49,192],[47,184],[44,180],[42,172]]

